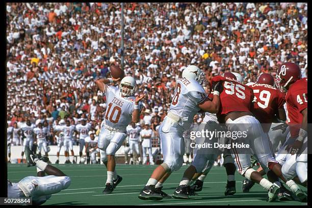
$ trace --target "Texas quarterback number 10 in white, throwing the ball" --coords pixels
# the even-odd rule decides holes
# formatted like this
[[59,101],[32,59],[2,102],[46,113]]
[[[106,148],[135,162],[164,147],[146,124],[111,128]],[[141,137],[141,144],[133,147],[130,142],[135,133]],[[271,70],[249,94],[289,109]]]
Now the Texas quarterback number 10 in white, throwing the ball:
[[127,136],[127,125],[131,121],[135,123],[140,121],[140,111],[143,108],[140,100],[145,97],[145,94],[134,96],[136,81],[132,76],[123,77],[119,88],[107,85],[119,80],[120,78],[110,78],[96,81],[99,90],[106,95],[107,102],[105,123],[98,137],[101,160],[107,167],[108,175],[103,194],[112,193],[122,179],[115,171],[115,153]]

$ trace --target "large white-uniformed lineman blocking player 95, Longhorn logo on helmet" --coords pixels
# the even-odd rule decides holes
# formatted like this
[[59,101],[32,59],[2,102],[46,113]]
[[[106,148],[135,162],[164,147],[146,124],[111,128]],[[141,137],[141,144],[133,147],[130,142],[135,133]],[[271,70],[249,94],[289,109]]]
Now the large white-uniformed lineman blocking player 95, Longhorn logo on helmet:
[[159,128],[164,163],[158,166],[139,194],[142,200],[161,200],[168,197],[161,191],[162,184],[172,171],[177,171],[183,164],[185,144],[183,133],[187,131],[194,115],[200,110],[217,113],[220,106],[222,85],[215,87],[213,101],[207,99],[202,85],[206,85],[203,71],[190,65],[182,72],[182,78],[176,81],[175,94],[168,115]]

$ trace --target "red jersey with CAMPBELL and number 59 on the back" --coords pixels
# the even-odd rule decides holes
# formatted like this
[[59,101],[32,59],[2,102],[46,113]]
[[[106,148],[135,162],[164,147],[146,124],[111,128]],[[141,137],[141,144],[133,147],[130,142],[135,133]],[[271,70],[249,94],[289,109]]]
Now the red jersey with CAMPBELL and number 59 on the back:
[[285,93],[267,84],[253,84],[249,86],[253,90],[255,100],[252,113],[260,121],[264,132],[269,132],[269,123],[272,123],[278,109],[284,108]]

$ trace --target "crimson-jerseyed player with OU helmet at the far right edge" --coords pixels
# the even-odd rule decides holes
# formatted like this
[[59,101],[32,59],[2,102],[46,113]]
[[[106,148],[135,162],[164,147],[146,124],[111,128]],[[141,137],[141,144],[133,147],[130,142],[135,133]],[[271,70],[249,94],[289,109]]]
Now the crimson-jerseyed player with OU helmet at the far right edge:
[[282,174],[288,179],[286,184],[293,188],[292,191],[298,192],[295,193],[301,201],[305,201],[305,194],[298,189],[294,180],[303,186],[307,185],[307,79],[301,79],[297,64],[285,62],[277,70],[275,84],[287,92],[287,124],[290,128],[289,138],[276,159],[282,164]]

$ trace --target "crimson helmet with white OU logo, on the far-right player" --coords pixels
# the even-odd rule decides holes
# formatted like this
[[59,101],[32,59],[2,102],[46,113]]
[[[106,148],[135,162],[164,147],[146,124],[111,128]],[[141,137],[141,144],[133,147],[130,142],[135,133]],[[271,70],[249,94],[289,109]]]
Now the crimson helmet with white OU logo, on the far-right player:
[[277,69],[275,84],[282,90],[287,90],[291,84],[301,79],[301,70],[293,62],[282,63]]

